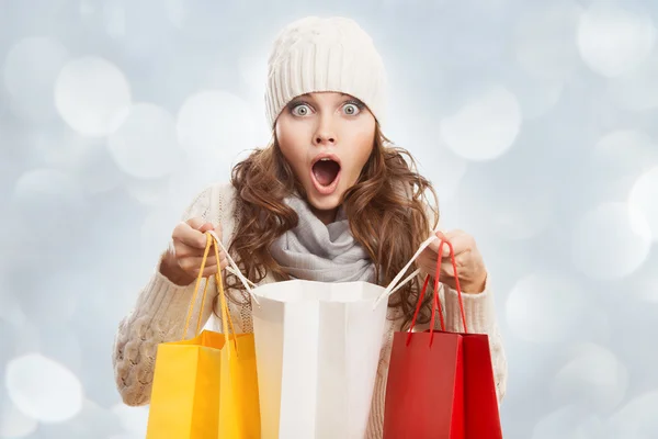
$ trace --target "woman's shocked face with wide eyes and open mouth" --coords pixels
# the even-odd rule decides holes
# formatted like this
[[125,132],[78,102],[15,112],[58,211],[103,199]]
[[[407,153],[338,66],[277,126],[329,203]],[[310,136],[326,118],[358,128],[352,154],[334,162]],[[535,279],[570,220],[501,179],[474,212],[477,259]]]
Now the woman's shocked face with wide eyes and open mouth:
[[375,117],[349,94],[308,93],[286,105],[275,131],[313,211],[325,224],[331,223],[373,150]]

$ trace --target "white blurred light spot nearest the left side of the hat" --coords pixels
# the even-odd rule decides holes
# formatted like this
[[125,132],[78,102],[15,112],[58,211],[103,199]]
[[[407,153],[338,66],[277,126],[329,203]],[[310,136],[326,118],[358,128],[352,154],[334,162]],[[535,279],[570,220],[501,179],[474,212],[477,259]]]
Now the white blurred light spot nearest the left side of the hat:
[[178,138],[189,157],[229,168],[243,149],[258,147],[252,110],[219,90],[191,95],[178,114]]

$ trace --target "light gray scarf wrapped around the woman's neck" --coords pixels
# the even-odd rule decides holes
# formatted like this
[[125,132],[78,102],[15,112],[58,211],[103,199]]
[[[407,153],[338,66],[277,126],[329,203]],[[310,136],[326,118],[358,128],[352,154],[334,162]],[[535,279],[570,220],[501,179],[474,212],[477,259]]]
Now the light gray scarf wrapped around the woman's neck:
[[342,206],[336,221],[325,225],[305,200],[294,195],[284,203],[297,212],[299,222],[272,244],[270,252],[293,279],[373,282],[375,266],[352,236]]

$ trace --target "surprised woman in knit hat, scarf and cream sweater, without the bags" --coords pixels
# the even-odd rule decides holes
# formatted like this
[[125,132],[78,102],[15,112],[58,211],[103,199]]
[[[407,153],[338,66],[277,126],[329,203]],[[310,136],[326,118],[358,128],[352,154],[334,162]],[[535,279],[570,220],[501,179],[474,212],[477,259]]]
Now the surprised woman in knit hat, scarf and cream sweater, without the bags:
[[[438,209],[435,203],[430,207],[426,194],[435,201],[433,188],[416,172],[410,155],[389,145],[381,131],[385,87],[382,59],[353,21],[306,18],[283,30],[269,59],[265,104],[272,143],[238,164],[230,183],[211,185],[191,203],[134,312],[121,322],[114,365],[126,404],[149,402],[157,345],[182,330],[207,230],[228,244],[256,284],[297,278],[386,285],[430,234],[444,236],[455,249],[469,330],[489,335],[502,398],[507,362],[481,255],[464,232],[432,232]],[[219,258],[208,259],[204,277],[217,264],[226,268],[226,258]],[[434,277],[436,258],[434,244],[417,268]],[[452,266],[446,259],[441,267],[447,330],[460,331]],[[236,330],[250,333],[249,295],[235,275],[224,274]],[[422,280],[390,297],[367,437],[382,437],[393,331],[408,326]],[[202,324],[211,315],[216,318],[216,299],[205,304]]]

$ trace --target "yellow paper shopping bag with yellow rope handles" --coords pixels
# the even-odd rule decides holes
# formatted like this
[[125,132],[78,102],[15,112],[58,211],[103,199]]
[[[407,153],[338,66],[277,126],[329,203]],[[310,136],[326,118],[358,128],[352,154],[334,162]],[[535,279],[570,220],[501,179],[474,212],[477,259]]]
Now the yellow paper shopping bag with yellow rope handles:
[[[151,390],[147,439],[260,438],[260,409],[253,334],[235,334],[219,268],[215,274],[224,334],[203,330],[201,309],[196,337],[184,340],[211,247],[219,261],[217,243],[207,245],[190,303],[181,341],[158,346]],[[230,327],[230,333],[229,333]]]

